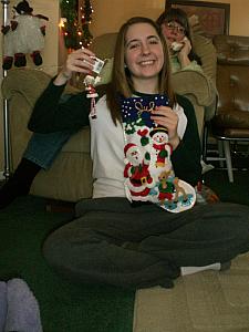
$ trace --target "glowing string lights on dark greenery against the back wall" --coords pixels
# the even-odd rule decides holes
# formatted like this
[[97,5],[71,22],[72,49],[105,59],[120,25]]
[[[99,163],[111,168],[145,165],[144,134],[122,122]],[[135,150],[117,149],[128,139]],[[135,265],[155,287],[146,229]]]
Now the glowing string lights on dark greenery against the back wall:
[[93,8],[90,0],[61,0],[61,30],[66,49],[89,48],[93,35],[89,25]]

